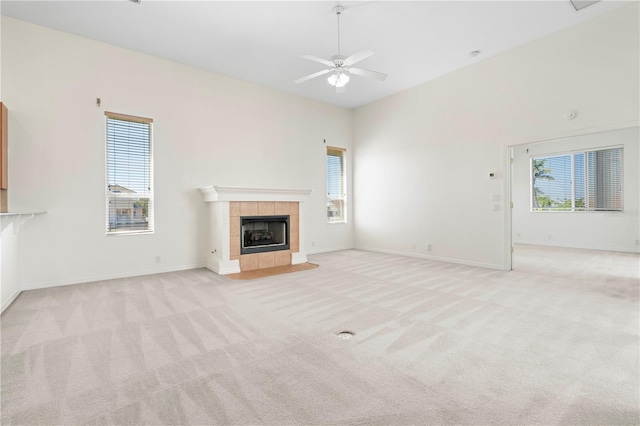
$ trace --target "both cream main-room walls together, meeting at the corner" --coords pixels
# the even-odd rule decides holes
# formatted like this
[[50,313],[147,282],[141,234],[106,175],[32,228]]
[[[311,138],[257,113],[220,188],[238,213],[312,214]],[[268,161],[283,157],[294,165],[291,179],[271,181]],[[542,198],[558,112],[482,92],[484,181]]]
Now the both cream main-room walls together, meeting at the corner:
[[[637,124],[638,15],[630,4],[354,112],[2,17],[10,206],[47,211],[3,234],[3,300],[203,265],[196,188],[212,184],[315,189],[308,253],[355,241],[504,267],[506,147]],[[104,236],[104,110],[154,119],[154,235]],[[353,160],[347,224],[326,224],[323,140]],[[283,171],[246,173],[249,156]]]

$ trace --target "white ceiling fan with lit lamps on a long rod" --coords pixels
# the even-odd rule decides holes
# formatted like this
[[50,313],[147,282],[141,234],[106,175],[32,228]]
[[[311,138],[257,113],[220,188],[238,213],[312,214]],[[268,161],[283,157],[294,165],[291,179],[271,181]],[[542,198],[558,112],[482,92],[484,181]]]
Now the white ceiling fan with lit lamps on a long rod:
[[362,68],[356,68],[353,65],[373,55],[373,52],[369,49],[362,49],[353,55],[347,57],[340,54],[340,15],[344,12],[344,6],[337,5],[331,9],[338,17],[338,54],[331,57],[331,59],[322,59],[312,55],[302,55],[302,58],[309,59],[315,62],[320,62],[326,65],[327,69],[309,74],[305,77],[297,79],[296,83],[303,83],[307,80],[311,80],[321,75],[329,74],[327,81],[330,85],[336,88],[337,93],[344,93],[346,90],[345,85],[349,82],[348,74],[355,74],[362,77],[375,78],[376,80],[384,80],[387,78],[386,74],[376,71],[369,71]]

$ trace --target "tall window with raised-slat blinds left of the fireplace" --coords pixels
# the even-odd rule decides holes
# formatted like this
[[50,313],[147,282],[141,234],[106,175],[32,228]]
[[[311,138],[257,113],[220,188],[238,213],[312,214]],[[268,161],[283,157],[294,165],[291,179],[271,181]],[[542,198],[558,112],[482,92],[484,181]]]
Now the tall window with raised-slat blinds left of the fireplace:
[[105,115],[107,235],[153,232],[153,120]]

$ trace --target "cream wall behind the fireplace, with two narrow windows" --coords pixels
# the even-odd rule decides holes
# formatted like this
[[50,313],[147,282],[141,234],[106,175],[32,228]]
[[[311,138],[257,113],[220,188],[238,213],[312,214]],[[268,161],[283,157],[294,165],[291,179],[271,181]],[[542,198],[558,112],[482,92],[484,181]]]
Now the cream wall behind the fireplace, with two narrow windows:
[[[47,211],[3,247],[22,289],[203,266],[212,184],[314,189],[307,252],[353,246],[326,224],[323,142],[351,150],[350,110],[7,17],[2,96],[9,207]],[[105,236],[104,111],[154,119],[153,235]]]

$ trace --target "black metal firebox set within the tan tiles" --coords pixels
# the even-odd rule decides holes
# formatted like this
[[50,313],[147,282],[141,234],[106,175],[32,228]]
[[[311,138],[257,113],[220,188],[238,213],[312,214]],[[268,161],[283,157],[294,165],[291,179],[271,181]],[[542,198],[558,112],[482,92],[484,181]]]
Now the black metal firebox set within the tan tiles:
[[241,216],[240,254],[289,250],[289,216]]

